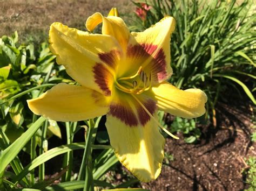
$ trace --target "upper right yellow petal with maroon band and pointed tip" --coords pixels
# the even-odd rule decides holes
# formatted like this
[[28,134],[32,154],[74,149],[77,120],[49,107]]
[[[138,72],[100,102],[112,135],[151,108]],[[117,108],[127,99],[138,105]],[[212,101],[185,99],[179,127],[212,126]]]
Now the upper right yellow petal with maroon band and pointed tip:
[[142,66],[148,75],[152,73],[152,84],[169,79],[172,75],[170,38],[174,28],[174,18],[165,17],[144,32],[132,32],[126,60],[119,67],[118,76],[129,76],[127,71],[134,73]]

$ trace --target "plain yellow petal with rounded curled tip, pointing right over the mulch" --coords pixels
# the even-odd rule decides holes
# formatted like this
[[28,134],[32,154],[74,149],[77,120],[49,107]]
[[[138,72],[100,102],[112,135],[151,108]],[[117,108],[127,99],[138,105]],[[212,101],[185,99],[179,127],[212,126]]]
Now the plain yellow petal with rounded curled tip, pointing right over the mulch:
[[180,90],[168,82],[152,87],[158,108],[172,115],[185,118],[205,114],[207,96],[200,89]]

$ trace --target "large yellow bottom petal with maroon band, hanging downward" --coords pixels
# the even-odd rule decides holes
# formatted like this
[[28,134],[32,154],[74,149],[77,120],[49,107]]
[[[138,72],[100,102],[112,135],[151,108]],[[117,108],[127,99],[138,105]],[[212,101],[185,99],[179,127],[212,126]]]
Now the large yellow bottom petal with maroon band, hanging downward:
[[[138,97],[156,117],[156,103]],[[164,157],[164,138],[158,125],[131,95],[118,93],[110,103],[106,128],[110,144],[122,164],[140,181],[156,179]]]

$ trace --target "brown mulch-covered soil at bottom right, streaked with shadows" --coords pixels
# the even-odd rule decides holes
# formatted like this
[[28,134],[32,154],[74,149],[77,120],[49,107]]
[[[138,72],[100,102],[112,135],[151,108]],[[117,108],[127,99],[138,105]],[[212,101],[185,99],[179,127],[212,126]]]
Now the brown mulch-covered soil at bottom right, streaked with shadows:
[[[250,109],[251,108],[251,109]],[[197,144],[167,139],[165,151],[174,161],[163,165],[157,181],[142,183],[152,190],[244,190],[244,158],[256,155],[251,142],[252,105],[236,102],[217,106],[217,128],[201,127]]]

